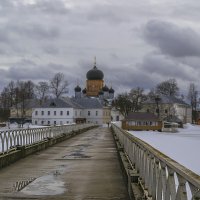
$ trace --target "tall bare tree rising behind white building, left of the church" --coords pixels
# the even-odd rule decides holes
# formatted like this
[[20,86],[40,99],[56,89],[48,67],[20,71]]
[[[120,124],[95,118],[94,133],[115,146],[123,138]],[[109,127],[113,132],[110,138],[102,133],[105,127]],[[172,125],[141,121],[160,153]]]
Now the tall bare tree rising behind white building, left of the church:
[[59,98],[61,95],[68,92],[67,90],[68,82],[65,80],[63,73],[57,73],[55,76],[50,80],[50,88],[52,94]]

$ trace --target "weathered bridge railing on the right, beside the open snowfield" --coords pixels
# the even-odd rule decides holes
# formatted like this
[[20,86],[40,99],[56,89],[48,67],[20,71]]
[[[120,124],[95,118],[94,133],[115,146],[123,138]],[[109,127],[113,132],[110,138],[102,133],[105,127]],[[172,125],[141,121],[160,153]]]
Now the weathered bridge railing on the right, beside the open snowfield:
[[[199,175],[116,125],[112,124],[112,129],[132,167],[139,173],[144,199],[200,199]],[[196,156],[200,159],[198,153]]]

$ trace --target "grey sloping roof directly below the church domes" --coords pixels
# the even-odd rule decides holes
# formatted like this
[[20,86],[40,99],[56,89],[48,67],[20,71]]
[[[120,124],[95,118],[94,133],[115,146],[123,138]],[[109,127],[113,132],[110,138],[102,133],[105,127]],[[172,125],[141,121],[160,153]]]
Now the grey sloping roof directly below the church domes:
[[85,109],[103,108],[98,98],[90,98],[90,97],[72,98],[72,101],[79,104],[82,108],[85,108]]

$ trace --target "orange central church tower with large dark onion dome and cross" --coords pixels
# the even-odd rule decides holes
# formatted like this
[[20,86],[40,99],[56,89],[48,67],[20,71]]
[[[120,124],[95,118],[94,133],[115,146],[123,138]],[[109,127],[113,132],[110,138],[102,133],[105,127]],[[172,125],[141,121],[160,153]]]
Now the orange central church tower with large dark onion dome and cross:
[[97,69],[96,58],[95,58],[93,69],[89,70],[86,74],[87,96],[93,96],[93,97],[99,96],[99,92],[102,90],[104,85],[103,77],[104,77],[103,72]]

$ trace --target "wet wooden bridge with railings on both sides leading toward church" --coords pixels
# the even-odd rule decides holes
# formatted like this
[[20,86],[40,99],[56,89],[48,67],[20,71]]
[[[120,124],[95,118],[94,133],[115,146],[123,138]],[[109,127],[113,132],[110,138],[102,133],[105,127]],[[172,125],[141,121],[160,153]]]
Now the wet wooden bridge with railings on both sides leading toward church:
[[112,124],[0,132],[0,199],[200,199],[200,177]]

